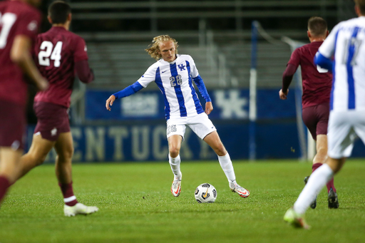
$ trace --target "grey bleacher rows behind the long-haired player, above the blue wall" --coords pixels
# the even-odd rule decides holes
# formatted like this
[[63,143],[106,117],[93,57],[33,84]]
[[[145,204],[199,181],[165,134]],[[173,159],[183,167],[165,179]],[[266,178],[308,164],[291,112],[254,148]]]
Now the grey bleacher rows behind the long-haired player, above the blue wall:
[[[91,88],[124,88],[138,80],[145,70],[155,62],[144,51],[147,45],[141,43],[89,43],[90,64],[96,74]],[[237,79],[239,87],[249,87],[250,81],[250,43],[220,46],[224,54],[231,77]],[[207,48],[199,46],[180,46],[179,53],[194,58],[200,76],[208,88],[230,88],[222,86],[217,67],[212,68],[207,60]],[[259,88],[277,88],[281,86],[282,72],[289,61],[290,48],[286,43],[258,45],[258,83]],[[228,76],[229,78],[229,76]],[[153,86],[155,87],[155,86]],[[156,87],[155,87],[156,88]]]

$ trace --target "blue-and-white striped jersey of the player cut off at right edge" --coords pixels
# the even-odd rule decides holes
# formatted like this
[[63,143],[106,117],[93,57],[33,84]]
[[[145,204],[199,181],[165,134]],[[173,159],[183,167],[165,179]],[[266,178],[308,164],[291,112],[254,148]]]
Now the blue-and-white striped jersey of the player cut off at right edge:
[[365,110],[365,16],[337,24],[317,54],[334,57],[331,110]]

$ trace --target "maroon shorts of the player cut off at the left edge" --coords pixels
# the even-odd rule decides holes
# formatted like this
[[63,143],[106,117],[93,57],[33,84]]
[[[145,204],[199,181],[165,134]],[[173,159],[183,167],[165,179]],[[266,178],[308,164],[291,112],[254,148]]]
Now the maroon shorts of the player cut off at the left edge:
[[23,149],[26,131],[26,106],[0,100],[0,147]]

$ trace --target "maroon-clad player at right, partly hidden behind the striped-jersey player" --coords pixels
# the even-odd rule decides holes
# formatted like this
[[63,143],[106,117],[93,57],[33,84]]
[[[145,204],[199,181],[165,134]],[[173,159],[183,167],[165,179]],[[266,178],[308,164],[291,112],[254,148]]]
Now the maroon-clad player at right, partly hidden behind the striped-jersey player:
[[[295,49],[282,76],[282,89],[279,97],[287,99],[289,85],[298,66],[302,68],[302,118],[312,138],[317,142],[317,154],[314,156],[312,172],[317,170],[327,159],[327,126],[329,118],[329,95],[331,93],[332,75],[327,69],[314,65],[313,58],[319,46],[328,36],[327,23],[320,17],[308,21],[308,37],[311,43]],[[309,177],[304,178],[307,184]],[[339,200],[333,178],[327,183],[328,207],[338,208]],[[317,199],[311,204],[314,209]]]

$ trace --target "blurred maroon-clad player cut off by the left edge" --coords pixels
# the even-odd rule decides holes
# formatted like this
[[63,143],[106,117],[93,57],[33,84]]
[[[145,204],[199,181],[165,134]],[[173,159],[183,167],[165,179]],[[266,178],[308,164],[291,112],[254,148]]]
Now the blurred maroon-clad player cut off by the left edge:
[[[0,3],[0,202],[19,173],[26,129],[28,85],[44,91],[48,82],[31,58],[41,14],[40,0]],[[33,6],[32,6],[33,5]]]

